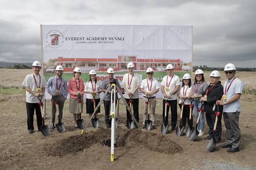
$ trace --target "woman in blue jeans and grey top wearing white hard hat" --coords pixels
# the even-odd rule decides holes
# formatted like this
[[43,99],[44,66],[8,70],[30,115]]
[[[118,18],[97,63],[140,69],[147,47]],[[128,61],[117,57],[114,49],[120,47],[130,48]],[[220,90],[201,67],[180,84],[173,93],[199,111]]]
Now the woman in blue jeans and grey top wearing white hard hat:
[[[200,102],[200,98],[202,97],[202,92],[206,90],[208,84],[204,81],[203,71],[201,69],[197,69],[195,71],[195,83],[192,84],[192,98],[196,98],[193,101],[194,105],[194,114],[196,116],[196,120],[199,115],[199,111],[201,109],[202,103]],[[199,137],[203,135],[204,131],[204,112],[201,110],[200,121],[197,125],[197,129],[199,131]]]

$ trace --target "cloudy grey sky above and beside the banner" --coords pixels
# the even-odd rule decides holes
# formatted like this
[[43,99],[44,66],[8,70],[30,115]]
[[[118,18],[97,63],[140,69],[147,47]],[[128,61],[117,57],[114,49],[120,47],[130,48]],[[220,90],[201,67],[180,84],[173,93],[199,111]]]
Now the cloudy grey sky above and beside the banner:
[[0,2],[0,61],[41,59],[40,24],[193,25],[194,65],[255,67],[256,1]]

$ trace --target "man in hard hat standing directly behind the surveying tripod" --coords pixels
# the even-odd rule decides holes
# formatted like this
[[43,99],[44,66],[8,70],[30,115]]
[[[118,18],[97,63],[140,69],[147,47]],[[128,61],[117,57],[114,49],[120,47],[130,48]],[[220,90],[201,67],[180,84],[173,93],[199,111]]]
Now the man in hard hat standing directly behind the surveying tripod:
[[[113,68],[108,68],[107,70],[108,73],[108,79],[105,79],[102,84],[101,84],[101,91],[103,91],[104,93],[107,91],[110,81],[111,79],[114,78],[114,69]],[[121,88],[118,80],[116,80],[116,85]],[[117,92],[115,92],[115,105],[117,103]],[[107,91],[107,95],[105,96],[105,98],[103,99],[104,102],[104,108],[105,108],[105,122],[106,122],[106,127],[110,128],[111,127],[111,120],[110,120],[110,106],[111,106],[111,89],[109,91]]]

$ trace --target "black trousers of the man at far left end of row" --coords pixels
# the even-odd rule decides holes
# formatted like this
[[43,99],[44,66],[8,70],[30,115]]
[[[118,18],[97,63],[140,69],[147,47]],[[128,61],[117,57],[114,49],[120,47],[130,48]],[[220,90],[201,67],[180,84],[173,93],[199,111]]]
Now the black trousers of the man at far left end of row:
[[39,127],[42,126],[42,115],[41,115],[41,109],[38,103],[28,103],[26,102],[26,108],[27,108],[27,126],[28,130],[33,130],[33,121],[34,121],[34,112],[36,110],[36,116],[37,116],[37,127],[39,130]]

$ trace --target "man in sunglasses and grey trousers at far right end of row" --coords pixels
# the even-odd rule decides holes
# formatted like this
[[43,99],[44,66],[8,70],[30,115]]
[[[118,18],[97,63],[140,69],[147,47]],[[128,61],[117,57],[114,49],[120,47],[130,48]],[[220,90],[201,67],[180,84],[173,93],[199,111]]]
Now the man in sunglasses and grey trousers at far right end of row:
[[241,95],[244,84],[235,77],[235,65],[228,63],[224,71],[227,81],[224,84],[224,95],[222,100],[216,104],[223,105],[223,118],[226,126],[226,142],[220,145],[221,148],[228,148],[227,152],[234,153],[239,151],[241,133],[239,128],[239,116],[241,112]]

